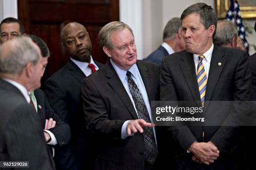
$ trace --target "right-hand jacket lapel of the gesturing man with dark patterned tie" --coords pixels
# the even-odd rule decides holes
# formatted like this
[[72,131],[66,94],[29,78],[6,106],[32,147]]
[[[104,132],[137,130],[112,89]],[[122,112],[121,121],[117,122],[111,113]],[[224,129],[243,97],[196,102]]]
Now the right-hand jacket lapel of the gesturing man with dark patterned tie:
[[146,88],[146,92],[148,94],[148,100],[149,100],[149,104],[151,105],[151,102],[150,101],[154,101],[155,98],[154,98],[154,90],[152,90],[152,80],[151,78],[153,77],[151,75],[150,72],[148,72],[148,69],[141,64],[141,61],[140,60],[137,60],[136,62],[137,66],[138,66],[138,70],[141,74],[141,78],[143,80],[143,83],[144,83],[144,86]]

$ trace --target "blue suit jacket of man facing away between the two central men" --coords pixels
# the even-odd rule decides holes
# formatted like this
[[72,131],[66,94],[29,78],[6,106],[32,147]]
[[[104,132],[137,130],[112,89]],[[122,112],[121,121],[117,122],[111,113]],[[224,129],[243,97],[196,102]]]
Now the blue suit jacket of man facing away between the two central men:
[[163,46],[160,45],[158,49],[156,49],[154,52],[148,55],[148,57],[146,57],[144,60],[151,61],[161,65],[163,58],[166,57],[167,55],[169,55],[168,51]]

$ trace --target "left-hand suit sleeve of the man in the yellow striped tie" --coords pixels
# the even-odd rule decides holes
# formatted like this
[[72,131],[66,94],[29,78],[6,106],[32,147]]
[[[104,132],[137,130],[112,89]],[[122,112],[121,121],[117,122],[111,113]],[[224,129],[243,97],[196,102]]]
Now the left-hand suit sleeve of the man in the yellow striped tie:
[[[160,100],[161,101],[177,101],[177,95],[172,79],[172,74],[169,72],[166,65],[166,58],[161,64],[160,74]],[[168,128],[172,132],[174,140],[178,141],[179,145],[186,151],[192,143],[197,141],[188,126],[171,126]]]

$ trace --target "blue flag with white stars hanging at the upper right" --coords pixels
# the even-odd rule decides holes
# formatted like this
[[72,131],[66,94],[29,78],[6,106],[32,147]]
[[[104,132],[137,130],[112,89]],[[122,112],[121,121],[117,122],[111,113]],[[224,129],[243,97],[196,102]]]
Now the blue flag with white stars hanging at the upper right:
[[243,40],[244,46],[246,47],[246,51],[249,56],[249,44],[245,37],[245,28],[243,27],[242,18],[241,18],[241,12],[239,9],[238,2],[235,0],[230,0],[230,7],[228,9],[226,19],[232,21],[233,23],[236,23],[237,30],[238,30],[238,36]]

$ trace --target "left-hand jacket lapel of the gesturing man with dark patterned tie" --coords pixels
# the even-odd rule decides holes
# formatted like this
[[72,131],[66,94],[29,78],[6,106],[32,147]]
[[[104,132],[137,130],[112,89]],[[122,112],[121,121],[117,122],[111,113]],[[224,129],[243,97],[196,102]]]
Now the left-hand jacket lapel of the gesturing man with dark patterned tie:
[[138,115],[133,107],[131,99],[127,94],[123,83],[118,77],[118,74],[115,72],[115,69],[108,60],[106,64],[106,76],[109,77],[108,84],[113,88],[116,94],[120,97],[125,107],[129,110],[134,119],[138,119]]

